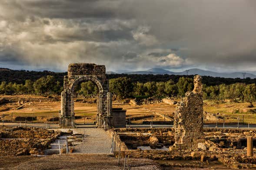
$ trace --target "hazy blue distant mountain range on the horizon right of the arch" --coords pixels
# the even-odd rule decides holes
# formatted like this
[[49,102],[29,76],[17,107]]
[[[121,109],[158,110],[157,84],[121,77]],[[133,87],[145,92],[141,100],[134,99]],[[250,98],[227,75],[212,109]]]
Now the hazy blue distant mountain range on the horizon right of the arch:
[[168,74],[168,75],[203,75],[203,76],[223,77],[223,78],[243,78],[243,76],[245,76],[245,78],[247,78],[247,77],[256,78],[256,75],[254,75],[252,73],[245,73],[245,75],[243,75],[243,72],[221,73],[221,72],[211,72],[211,71],[202,70],[202,69],[188,69],[183,72],[170,72],[165,69],[153,68],[153,69],[149,69],[146,71],[126,72],[125,70],[123,70],[123,72],[122,72],[121,70],[118,70],[118,72],[114,71],[114,72],[106,72],[106,73],[107,74],[145,74],[145,75],[147,75],[147,74],[152,74],[152,75],[164,75],[164,74]]

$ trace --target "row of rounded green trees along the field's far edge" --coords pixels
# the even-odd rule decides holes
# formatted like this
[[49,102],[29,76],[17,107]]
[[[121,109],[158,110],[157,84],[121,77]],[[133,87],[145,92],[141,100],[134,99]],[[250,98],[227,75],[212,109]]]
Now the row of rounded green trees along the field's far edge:
[[[119,77],[112,78],[109,81],[110,92],[119,98],[129,98],[134,96],[148,96],[156,98],[164,97],[183,97],[187,91],[193,90],[193,79],[180,77],[178,82],[168,80],[166,82],[132,82],[131,78]],[[41,77],[36,81],[26,80],[24,84],[1,82],[0,94],[6,95],[60,95],[63,91],[63,85],[52,75]],[[77,94],[88,96],[96,95],[98,89],[93,82],[83,82],[76,88]],[[204,99],[233,101],[256,101],[256,85],[235,83],[231,85],[203,85]]]

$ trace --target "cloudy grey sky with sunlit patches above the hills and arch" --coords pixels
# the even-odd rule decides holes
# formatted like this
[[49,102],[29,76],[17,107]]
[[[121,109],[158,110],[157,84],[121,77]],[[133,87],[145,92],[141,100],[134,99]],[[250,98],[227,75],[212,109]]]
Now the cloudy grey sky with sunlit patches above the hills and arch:
[[70,62],[255,72],[256,1],[0,0],[0,67]]

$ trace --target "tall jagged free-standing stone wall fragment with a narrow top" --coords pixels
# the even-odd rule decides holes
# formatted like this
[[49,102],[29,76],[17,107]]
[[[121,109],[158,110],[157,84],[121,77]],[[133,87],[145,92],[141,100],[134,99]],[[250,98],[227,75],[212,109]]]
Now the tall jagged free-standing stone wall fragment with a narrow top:
[[175,144],[171,150],[196,149],[204,142],[202,78],[194,77],[194,90],[186,92],[174,116]]

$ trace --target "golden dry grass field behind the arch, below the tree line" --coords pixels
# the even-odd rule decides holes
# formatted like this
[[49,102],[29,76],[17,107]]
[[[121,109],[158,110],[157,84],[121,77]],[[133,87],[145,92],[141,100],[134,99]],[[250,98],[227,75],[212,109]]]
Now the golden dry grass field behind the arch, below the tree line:
[[[0,98],[16,99],[6,104],[0,105],[0,120],[24,122],[58,122],[60,110],[60,98],[57,101],[43,96],[0,96]],[[19,105],[18,101],[21,101]],[[20,109],[17,109],[20,106]],[[253,103],[256,106],[256,103]],[[256,107],[249,107],[249,103],[204,101],[204,111],[212,114],[225,116],[226,123],[239,122],[256,124]],[[128,105],[113,102],[113,108],[123,108],[126,110],[126,119],[132,123],[142,123],[143,121],[168,121],[165,118],[156,115],[165,114],[173,117],[176,105],[165,103],[148,104],[148,105]],[[97,104],[93,101],[75,102],[75,116],[78,124],[93,124],[96,120]],[[205,123],[215,123],[216,121],[205,121]]]

